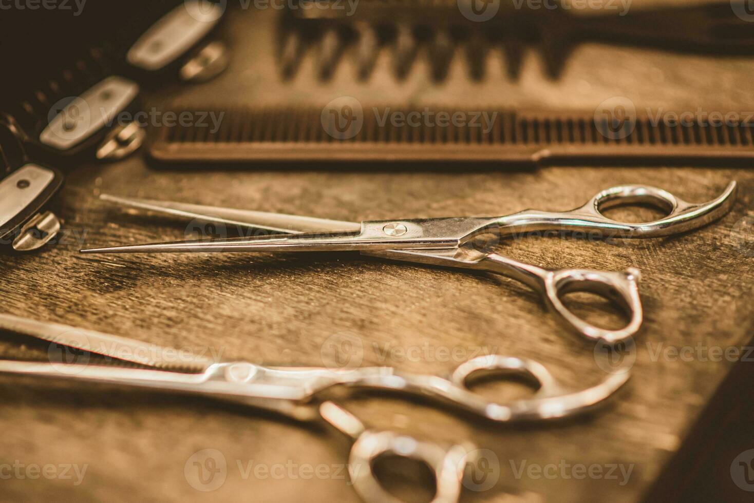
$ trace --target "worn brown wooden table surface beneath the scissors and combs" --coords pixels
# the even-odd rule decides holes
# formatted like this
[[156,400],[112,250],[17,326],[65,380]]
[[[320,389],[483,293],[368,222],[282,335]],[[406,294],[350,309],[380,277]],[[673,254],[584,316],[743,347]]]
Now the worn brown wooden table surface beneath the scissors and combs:
[[[234,38],[236,46],[238,38],[241,35]],[[259,95],[271,93],[262,91],[268,86],[259,81],[260,75],[248,62],[250,56],[243,52],[262,50],[244,47],[251,46],[243,45],[235,53],[231,70],[218,81],[170,90],[179,93],[170,98],[218,99],[218,90],[232,89],[251,102],[250,82]],[[671,72],[676,76],[683,73],[687,59],[693,59],[700,65],[716,65],[733,81],[744,77],[741,59],[711,62],[655,53],[647,57],[676,58],[676,70]],[[590,78],[583,76],[582,68],[590,58],[579,52],[576,59],[584,61],[569,69],[564,87],[583,87],[575,75],[582,75],[583,81]],[[622,65],[620,73],[636,63],[619,58],[615,64]],[[247,86],[241,90],[240,75],[257,80],[244,81]],[[274,76],[266,78],[274,81]],[[590,81],[599,93],[581,93],[569,104],[604,99],[601,95],[607,91],[600,79],[609,77]],[[289,87],[280,84],[281,93],[300,93],[290,89],[297,84],[285,85]],[[682,86],[679,80],[675,85],[682,91],[658,88],[656,93],[664,93],[673,104],[674,96],[685,102],[710,88],[709,81],[684,81]],[[516,86],[520,94],[529,92],[523,83]],[[565,95],[567,90],[558,92]],[[326,93],[336,93],[336,87],[322,93],[318,97],[327,102]],[[439,96],[436,90],[428,94]],[[164,100],[167,92],[155,96]],[[709,98],[715,103],[711,106],[751,104],[727,84]],[[0,292],[5,312],[207,351],[226,359],[321,366],[350,355],[363,365],[389,364],[443,374],[465,358],[495,352],[535,358],[564,383],[580,389],[606,375],[596,364],[593,345],[565,331],[537,294],[509,279],[348,253],[102,256],[79,255],[77,250],[182,239],[185,234],[185,222],[123,212],[98,200],[101,193],[360,221],[569,209],[605,187],[626,183],[664,187],[685,200],[701,202],[716,197],[731,180],[740,184],[733,211],[684,236],[608,242],[531,238],[501,246],[506,255],[542,267],[642,271],[645,324],[636,337],[633,377],[599,413],[550,425],[510,427],[395,397],[342,402],[371,427],[435,441],[473,441],[486,450],[483,456],[492,467],[487,476],[494,483],[485,490],[465,489],[462,501],[635,502],[670,462],[734,365],[725,358],[706,361],[697,356],[674,361],[665,350],[691,346],[694,355],[697,348],[704,355],[711,346],[743,346],[754,334],[754,258],[750,230],[742,226],[746,215],[752,214],[754,172],[746,169],[158,170],[146,166],[143,155],[136,155],[118,163],[84,164],[69,172],[59,213],[65,219],[65,239],[35,254],[5,256]],[[618,321],[601,303],[590,308],[592,304],[584,301],[578,297],[575,309],[607,324]],[[344,346],[344,340],[355,344]],[[336,353],[349,347],[352,353]],[[5,334],[0,355],[44,359],[45,348]],[[511,397],[526,394],[526,388],[489,384],[480,392],[490,398]],[[2,377],[0,396],[0,475],[3,464],[87,467],[78,485],[75,475],[0,480],[2,501],[358,501],[342,470],[348,443],[329,428],[194,398],[104,386]],[[193,462],[199,458],[192,456],[207,449],[226,463],[225,471],[217,475],[225,477],[224,483],[213,492],[196,489],[208,486],[198,482]],[[550,464],[559,467],[555,477],[537,477],[536,471],[526,468]],[[562,468],[577,464],[599,465],[605,474],[612,465],[618,468],[615,478],[583,479],[573,477],[572,468]],[[258,465],[262,468],[255,472]],[[630,474],[624,476],[620,467],[624,473],[630,469]],[[410,481],[393,485],[407,501],[421,501],[427,495]]]

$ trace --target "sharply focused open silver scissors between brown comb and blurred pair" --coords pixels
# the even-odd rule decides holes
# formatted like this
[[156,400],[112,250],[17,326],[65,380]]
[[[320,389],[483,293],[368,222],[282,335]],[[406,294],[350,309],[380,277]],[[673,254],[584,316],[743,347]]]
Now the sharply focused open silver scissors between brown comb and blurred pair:
[[[685,233],[725,215],[736,196],[736,182],[708,203],[687,203],[667,191],[648,185],[621,185],[599,192],[584,206],[569,212],[525,210],[501,217],[423,218],[346,222],[280,213],[200,206],[103,194],[123,206],[182,218],[267,230],[271,236],[158,242],[112,248],[90,248],[81,253],[164,252],[330,252],[358,251],[363,255],[419,264],[481,270],[510,276],[538,291],[544,303],[567,326],[588,340],[615,345],[642,325],[639,270],[546,270],[524,264],[479,245],[479,238],[525,236],[532,231],[592,233],[601,237],[650,238]],[[667,216],[634,224],[605,217],[602,210],[625,204],[657,206]],[[280,235],[283,234],[283,235]],[[571,312],[561,297],[571,291],[589,291],[611,300],[626,312],[629,322],[609,330],[592,325]]]

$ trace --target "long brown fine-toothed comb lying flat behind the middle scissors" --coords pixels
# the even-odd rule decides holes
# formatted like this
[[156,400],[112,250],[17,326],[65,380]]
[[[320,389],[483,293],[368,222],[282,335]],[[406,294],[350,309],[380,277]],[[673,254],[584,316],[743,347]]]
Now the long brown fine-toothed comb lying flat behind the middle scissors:
[[[594,120],[578,112],[526,112],[468,108],[464,125],[396,126],[385,110],[404,117],[425,109],[363,107],[360,128],[336,128],[321,108],[235,108],[210,127],[162,127],[151,154],[164,161],[233,160],[512,160],[539,157],[751,158],[754,123],[685,125]],[[204,108],[206,110],[206,108]],[[375,111],[376,109],[376,111]],[[477,111],[471,111],[477,110]],[[188,111],[188,110],[182,110]],[[177,111],[181,113],[181,111]],[[449,112],[452,114],[452,112]],[[486,121],[483,117],[492,118]],[[474,125],[471,124],[475,116]],[[632,127],[633,126],[633,127]],[[621,129],[623,128],[623,129]],[[328,133],[339,133],[331,135]],[[605,134],[603,134],[605,133]],[[339,139],[339,137],[343,139]]]

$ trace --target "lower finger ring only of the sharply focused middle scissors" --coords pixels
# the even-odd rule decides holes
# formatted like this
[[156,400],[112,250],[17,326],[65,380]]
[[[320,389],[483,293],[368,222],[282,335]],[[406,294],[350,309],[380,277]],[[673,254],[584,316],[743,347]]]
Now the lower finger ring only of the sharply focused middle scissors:
[[[644,314],[639,297],[640,277],[639,270],[633,267],[621,273],[588,269],[547,271],[543,297],[547,307],[566,325],[587,339],[612,346],[632,337],[642,326]],[[623,328],[609,330],[584,321],[562,302],[562,296],[573,291],[586,291],[611,300],[629,316],[629,322]]]

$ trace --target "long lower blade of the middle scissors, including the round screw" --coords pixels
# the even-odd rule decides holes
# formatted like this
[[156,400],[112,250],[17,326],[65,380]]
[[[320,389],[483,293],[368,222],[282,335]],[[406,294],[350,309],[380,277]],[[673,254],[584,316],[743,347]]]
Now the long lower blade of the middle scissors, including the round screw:
[[489,223],[489,218],[366,221],[362,222],[359,233],[313,233],[158,242],[90,248],[81,250],[81,253],[348,252],[456,248],[460,245],[461,239]]

